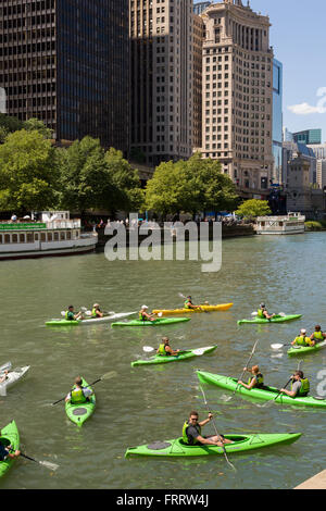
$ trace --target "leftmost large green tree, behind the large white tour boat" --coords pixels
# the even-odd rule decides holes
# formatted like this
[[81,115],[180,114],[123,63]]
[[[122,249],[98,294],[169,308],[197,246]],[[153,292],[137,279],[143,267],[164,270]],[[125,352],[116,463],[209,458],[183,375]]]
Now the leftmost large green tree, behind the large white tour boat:
[[9,134],[0,146],[0,209],[30,211],[55,203],[54,149],[38,132]]

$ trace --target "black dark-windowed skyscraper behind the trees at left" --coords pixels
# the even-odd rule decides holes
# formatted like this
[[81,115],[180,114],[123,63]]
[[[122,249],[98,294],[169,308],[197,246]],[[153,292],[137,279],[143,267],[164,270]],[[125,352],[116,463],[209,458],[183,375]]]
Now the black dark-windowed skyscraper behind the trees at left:
[[8,114],[128,149],[128,0],[2,0]]

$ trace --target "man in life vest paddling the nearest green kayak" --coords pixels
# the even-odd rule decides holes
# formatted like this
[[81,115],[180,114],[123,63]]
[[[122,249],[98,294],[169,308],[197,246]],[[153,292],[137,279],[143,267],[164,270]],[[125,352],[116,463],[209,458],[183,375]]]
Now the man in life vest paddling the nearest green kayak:
[[201,428],[212,421],[213,415],[212,413],[209,413],[209,417],[201,422],[198,422],[198,412],[192,411],[188,421],[185,422],[183,427],[183,440],[185,444],[188,444],[189,446],[210,445],[220,447],[222,447],[223,444],[233,444],[231,440],[226,439],[223,435],[202,436]]

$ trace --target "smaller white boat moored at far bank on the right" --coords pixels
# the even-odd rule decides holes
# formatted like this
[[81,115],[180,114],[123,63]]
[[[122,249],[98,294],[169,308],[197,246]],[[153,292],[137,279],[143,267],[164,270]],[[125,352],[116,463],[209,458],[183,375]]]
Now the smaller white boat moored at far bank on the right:
[[291,213],[283,216],[259,216],[256,219],[256,234],[303,234],[305,216],[301,213]]

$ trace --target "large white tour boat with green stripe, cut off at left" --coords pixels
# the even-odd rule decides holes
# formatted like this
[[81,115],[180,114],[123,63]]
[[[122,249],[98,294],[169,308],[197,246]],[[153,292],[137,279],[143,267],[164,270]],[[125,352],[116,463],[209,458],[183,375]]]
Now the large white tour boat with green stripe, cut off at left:
[[82,254],[97,242],[98,234],[82,233],[80,220],[71,220],[68,211],[45,211],[37,222],[0,222],[0,260]]

